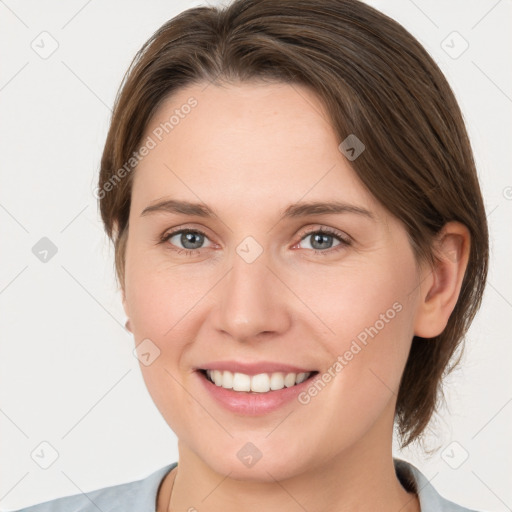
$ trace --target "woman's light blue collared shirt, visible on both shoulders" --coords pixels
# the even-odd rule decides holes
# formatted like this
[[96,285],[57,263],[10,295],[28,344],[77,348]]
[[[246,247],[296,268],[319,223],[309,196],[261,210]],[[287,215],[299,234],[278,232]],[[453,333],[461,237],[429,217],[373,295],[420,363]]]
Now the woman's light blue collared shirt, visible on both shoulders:
[[[476,512],[443,498],[412,464],[393,460],[402,485],[418,494],[421,512]],[[142,480],[46,501],[17,512],[156,512],[160,483],[177,464],[169,464]]]

